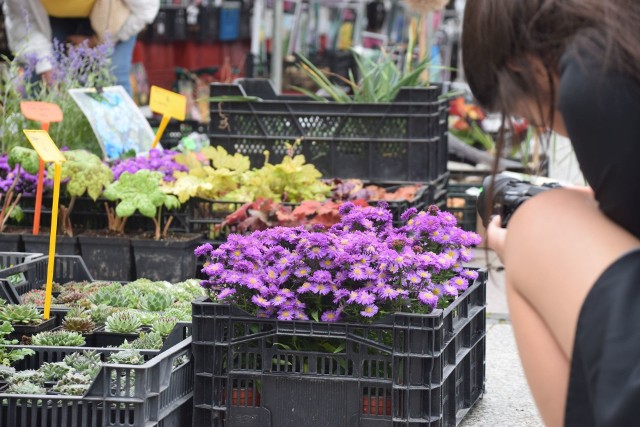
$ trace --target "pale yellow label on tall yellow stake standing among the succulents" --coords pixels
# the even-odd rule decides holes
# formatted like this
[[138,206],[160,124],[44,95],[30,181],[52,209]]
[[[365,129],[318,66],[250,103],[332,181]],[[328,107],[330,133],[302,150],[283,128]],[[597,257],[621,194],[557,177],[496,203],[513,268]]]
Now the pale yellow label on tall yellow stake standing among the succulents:
[[56,259],[56,234],[58,228],[58,201],[60,199],[61,163],[66,159],[49,136],[46,130],[24,130],[27,139],[36,150],[42,162],[53,162],[53,206],[51,207],[51,234],[49,235],[49,264],[47,265],[47,286],[44,298],[44,318],[49,319],[51,311],[51,290],[53,283],[53,266]]

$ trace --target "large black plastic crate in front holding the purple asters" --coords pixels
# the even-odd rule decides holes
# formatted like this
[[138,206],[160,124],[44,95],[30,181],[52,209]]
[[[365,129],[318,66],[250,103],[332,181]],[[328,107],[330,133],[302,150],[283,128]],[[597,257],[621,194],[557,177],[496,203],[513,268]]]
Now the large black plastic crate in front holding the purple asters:
[[[372,324],[193,302],[194,426],[456,426],[484,392],[486,271],[446,310]],[[297,351],[291,336],[344,346]]]

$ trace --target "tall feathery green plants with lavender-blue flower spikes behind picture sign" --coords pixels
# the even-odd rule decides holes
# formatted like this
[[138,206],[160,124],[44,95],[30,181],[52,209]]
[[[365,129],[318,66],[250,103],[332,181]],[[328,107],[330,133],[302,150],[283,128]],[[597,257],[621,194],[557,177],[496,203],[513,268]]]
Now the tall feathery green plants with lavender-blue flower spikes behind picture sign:
[[20,102],[24,100],[45,101],[58,104],[64,119],[52,123],[49,133],[60,146],[71,149],[85,148],[102,155],[100,145],[91,125],[77,106],[68,90],[85,87],[106,87],[115,82],[109,56],[109,44],[94,48],[86,44],[54,46],[53,84],[45,85],[33,78],[37,59],[30,55],[20,55],[21,59],[2,57],[4,72],[0,75],[0,152],[8,152],[11,147],[28,147],[29,143],[22,129],[37,129],[38,123],[24,118]]

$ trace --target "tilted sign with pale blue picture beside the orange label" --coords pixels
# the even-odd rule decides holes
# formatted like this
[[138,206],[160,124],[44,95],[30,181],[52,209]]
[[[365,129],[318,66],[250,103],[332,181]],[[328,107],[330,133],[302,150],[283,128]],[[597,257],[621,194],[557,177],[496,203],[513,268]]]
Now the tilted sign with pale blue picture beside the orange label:
[[93,88],[69,89],[89,120],[91,128],[108,159],[134,150],[151,149],[154,133],[151,125],[122,86],[109,86],[97,92]]

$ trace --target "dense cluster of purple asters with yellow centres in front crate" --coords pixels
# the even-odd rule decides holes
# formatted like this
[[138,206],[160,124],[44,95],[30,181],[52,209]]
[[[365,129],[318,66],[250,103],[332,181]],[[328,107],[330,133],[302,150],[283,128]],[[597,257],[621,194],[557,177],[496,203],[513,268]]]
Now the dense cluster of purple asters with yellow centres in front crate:
[[[477,278],[465,269],[480,236],[432,206],[392,225],[384,205],[345,203],[328,230],[276,227],[230,235],[208,256],[202,281],[212,300],[259,317],[336,322],[444,308]],[[320,227],[321,228],[321,227]]]

